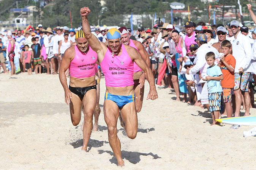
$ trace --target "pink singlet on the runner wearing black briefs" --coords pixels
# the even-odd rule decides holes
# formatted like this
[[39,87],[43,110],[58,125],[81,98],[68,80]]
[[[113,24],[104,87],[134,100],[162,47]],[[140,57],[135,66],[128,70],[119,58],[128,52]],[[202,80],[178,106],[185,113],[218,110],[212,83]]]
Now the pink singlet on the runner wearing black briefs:
[[90,46],[87,53],[81,52],[75,45],[75,57],[70,62],[70,76],[76,78],[85,78],[94,76],[96,73],[95,64],[98,55]]

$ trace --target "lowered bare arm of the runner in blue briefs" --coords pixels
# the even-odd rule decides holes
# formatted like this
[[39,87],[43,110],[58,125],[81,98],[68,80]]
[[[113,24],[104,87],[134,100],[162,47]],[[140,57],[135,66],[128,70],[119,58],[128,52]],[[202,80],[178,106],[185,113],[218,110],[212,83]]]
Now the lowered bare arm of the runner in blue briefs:
[[153,73],[151,69],[147,66],[146,62],[142,59],[139,51],[137,51],[135,48],[125,45],[125,48],[131,57],[131,59],[145,72],[145,75],[147,76],[147,80],[149,82],[149,94],[147,96],[147,100],[150,98],[151,100],[155,100],[158,98],[156,87],[155,87],[155,80],[153,77]]

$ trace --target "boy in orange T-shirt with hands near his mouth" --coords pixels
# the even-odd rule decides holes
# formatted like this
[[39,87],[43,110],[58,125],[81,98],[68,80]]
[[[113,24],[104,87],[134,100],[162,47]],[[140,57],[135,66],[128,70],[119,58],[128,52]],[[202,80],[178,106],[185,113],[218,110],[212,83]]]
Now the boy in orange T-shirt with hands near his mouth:
[[224,79],[221,81],[223,89],[223,101],[226,106],[227,117],[232,117],[231,95],[233,94],[233,87],[235,85],[235,58],[230,54],[232,47],[231,42],[224,40],[221,42],[220,63],[218,66],[223,73]]

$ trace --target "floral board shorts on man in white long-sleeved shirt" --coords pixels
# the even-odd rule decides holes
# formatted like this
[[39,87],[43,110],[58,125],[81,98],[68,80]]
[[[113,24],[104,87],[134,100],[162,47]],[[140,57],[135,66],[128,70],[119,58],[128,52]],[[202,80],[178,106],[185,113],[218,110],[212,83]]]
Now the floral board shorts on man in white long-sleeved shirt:
[[248,92],[250,75],[251,75],[250,72],[235,73],[234,90],[240,89],[243,92]]

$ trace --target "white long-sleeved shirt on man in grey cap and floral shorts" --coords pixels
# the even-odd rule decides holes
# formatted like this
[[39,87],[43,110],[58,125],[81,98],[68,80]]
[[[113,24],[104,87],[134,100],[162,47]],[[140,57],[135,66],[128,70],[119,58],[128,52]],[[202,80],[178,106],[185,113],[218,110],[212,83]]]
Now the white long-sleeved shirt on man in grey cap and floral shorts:
[[251,44],[248,37],[241,33],[237,34],[237,39],[231,42],[233,56],[235,57],[235,73],[242,67],[244,72],[251,72],[250,62],[252,58]]

